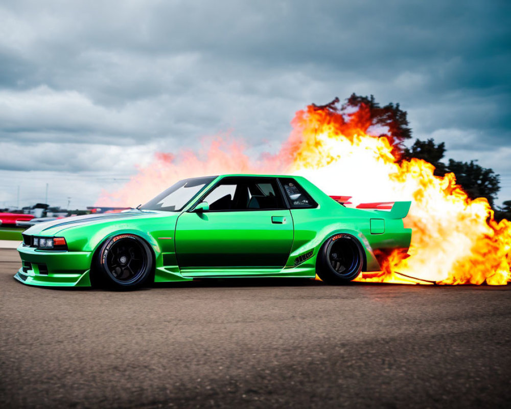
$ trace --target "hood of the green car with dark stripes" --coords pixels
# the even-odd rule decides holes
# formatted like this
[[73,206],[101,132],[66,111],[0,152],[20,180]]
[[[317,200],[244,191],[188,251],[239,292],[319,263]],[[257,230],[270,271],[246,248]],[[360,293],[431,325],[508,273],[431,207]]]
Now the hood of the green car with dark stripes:
[[61,233],[64,230],[76,228],[78,226],[83,225],[102,224],[117,221],[125,222],[129,220],[140,220],[143,218],[164,217],[170,215],[172,215],[172,213],[148,210],[140,211],[132,210],[124,213],[88,214],[85,216],[66,217],[64,219],[58,219],[44,223],[37,223],[36,225],[33,225],[31,228],[27,229],[24,232],[24,234],[29,235],[41,234],[43,236],[54,236],[56,234]]

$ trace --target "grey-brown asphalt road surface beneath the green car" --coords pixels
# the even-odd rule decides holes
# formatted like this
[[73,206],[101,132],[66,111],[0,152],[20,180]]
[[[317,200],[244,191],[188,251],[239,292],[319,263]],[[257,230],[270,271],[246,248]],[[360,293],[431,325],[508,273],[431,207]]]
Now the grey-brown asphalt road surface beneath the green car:
[[511,286],[29,287],[0,250],[2,407],[509,407]]

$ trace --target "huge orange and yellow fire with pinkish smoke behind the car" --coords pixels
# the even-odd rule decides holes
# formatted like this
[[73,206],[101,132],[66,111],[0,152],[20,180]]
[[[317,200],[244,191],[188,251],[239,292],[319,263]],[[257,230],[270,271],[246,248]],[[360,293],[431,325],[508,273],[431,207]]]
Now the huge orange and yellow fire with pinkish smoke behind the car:
[[362,105],[346,113],[329,106],[308,106],[296,113],[281,151],[257,161],[245,153],[245,146],[228,138],[206,142],[206,149],[198,154],[159,153],[120,191],[103,192],[98,203],[138,204],[184,177],[299,174],[329,195],[353,196],[354,205],[412,200],[405,219],[405,226],[413,230],[409,255],[381,255],[383,271],[361,275],[358,281],[490,285],[511,281],[511,222],[497,223],[487,200],[471,200],[456,185],[454,174],[438,177],[423,160],[400,160],[391,134],[370,134],[366,108]]

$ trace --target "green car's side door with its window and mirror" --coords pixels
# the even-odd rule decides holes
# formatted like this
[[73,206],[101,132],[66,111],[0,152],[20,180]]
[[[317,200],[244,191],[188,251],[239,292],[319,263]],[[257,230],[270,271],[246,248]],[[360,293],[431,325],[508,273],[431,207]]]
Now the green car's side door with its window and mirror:
[[293,220],[275,178],[225,177],[200,201],[210,209],[192,209],[177,220],[183,275],[251,275],[285,266]]

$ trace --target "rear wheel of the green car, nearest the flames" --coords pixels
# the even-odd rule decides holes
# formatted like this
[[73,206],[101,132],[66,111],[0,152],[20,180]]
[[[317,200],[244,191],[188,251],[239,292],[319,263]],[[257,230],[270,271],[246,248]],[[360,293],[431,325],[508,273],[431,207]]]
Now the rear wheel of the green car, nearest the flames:
[[359,241],[349,234],[336,234],[321,246],[316,273],[327,284],[345,284],[360,274],[363,263]]

